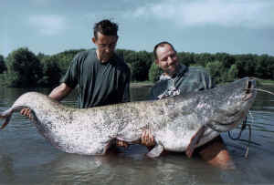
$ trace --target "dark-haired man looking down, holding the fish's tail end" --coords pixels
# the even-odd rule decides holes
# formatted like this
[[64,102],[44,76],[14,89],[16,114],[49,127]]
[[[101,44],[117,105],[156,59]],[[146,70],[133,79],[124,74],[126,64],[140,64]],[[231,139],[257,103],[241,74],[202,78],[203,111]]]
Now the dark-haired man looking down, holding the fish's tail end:
[[[114,53],[118,25],[110,20],[102,20],[95,24],[93,30],[91,40],[97,48],[80,52],[73,58],[61,84],[50,92],[49,98],[60,101],[78,86],[79,108],[131,100],[130,68]],[[30,109],[23,108],[21,114],[29,117]],[[123,142],[120,145],[123,146]]]

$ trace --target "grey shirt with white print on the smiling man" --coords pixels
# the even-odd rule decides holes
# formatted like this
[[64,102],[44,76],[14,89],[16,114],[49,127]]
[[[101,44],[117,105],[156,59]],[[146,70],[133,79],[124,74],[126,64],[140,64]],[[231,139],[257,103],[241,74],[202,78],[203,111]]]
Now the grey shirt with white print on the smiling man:
[[150,98],[159,99],[214,87],[212,78],[203,67],[180,66],[174,77],[161,76],[151,89]]

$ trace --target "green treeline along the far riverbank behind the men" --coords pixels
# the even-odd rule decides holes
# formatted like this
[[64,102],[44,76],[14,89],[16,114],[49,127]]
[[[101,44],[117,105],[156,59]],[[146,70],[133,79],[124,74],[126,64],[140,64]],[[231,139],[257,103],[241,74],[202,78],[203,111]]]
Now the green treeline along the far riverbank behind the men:
[[[35,55],[26,47],[0,55],[0,85],[5,87],[56,87],[66,73],[73,57],[83,51],[67,50],[57,55]],[[156,81],[161,74],[153,60],[153,52],[117,49],[132,70],[132,81]],[[241,77],[274,79],[274,57],[268,55],[229,55],[227,53],[179,52],[180,63],[201,66],[214,78],[216,84]]]

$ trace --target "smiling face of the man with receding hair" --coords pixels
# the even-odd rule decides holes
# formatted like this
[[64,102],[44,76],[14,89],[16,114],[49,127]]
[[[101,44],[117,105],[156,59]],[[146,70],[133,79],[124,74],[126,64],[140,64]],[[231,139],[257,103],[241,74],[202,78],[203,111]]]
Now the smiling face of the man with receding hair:
[[163,69],[164,73],[173,76],[179,67],[177,55],[173,47],[167,44],[164,46],[158,46],[156,54],[158,57],[155,61],[156,64]]

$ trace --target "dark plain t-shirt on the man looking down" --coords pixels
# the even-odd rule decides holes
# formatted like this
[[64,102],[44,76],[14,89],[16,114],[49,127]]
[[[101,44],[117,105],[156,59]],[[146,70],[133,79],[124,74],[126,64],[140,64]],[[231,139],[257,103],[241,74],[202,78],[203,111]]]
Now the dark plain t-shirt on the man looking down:
[[130,68],[121,57],[113,55],[101,63],[95,49],[80,52],[73,58],[61,80],[78,88],[79,108],[91,108],[130,101]]

